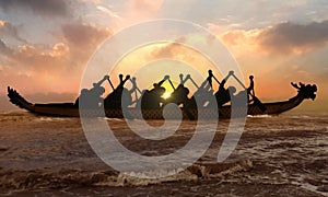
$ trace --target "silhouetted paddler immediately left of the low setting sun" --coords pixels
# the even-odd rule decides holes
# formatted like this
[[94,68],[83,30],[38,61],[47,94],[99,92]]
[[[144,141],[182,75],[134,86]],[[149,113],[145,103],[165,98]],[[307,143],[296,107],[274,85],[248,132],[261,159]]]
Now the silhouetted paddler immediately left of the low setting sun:
[[162,86],[165,80],[169,77],[165,76],[162,81],[153,84],[152,90],[147,90],[141,96],[141,108],[142,109],[156,109],[161,108],[161,103],[164,102],[162,95],[165,93],[165,89]]

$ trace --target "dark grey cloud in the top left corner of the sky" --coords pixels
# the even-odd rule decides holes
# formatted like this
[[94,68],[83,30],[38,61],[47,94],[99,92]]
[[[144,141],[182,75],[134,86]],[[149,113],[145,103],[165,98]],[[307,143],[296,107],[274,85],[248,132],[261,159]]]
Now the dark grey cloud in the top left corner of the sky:
[[3,11],[31,9],[42,15],[65,16],[69,14],[68,2],[68,0],[0,0],[0,8]]

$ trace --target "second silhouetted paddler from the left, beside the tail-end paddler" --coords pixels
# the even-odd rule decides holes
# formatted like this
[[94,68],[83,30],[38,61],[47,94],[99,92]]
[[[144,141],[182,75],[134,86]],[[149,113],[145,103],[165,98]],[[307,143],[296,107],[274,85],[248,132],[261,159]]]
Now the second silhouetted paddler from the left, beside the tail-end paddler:
[[107,95],[104,100],[105,108],[121,109],[128,107],[132,103],[131,93],[134,91],[133,88],[129,91],[124,88],[125,83],[130,79],[130,76],[126,76],[124,79],[122,74],[119,74],[119,84],[117,88]]

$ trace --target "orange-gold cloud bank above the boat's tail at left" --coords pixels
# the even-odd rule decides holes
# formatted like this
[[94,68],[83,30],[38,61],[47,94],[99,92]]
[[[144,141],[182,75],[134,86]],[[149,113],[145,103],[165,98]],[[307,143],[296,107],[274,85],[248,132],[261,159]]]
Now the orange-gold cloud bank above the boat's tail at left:
[[9,48],[0,39],[2,55],[7,51],[0,61],[5,70],[0,72],[0,78],[5,79],[1,84],[17,84],[19,89],[38,92],[79,92],[87,59],[110,34],[109,28],[75,22],[66,24],[51,46],[23,44]]

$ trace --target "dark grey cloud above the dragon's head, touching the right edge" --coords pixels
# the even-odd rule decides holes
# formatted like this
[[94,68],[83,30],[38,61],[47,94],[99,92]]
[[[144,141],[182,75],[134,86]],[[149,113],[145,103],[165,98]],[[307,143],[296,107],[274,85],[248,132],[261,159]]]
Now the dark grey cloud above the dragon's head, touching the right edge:
[[291,54],[313,50],[328,43],[328,21],[311,24],[281,23],[258,35],[259,45],[271,53]]

